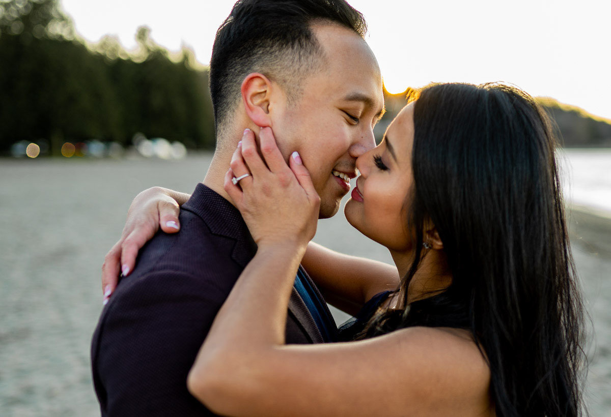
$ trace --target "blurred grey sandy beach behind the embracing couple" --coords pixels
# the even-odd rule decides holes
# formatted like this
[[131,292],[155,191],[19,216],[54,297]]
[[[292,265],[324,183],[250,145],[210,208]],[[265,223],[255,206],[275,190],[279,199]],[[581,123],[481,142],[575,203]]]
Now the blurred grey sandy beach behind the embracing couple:
[[[211,154],[156,159],[0,159],[0,415],[100,415],[89,345],[100,268],[132,198],[150,186],[191,192]],[[611,413],[611,218],[575,207],[571,242],[593,323],[587,404]],[[386,249],[322,220],[315,241],[391,262]],[[342,321],[345,315],[336,314]]]

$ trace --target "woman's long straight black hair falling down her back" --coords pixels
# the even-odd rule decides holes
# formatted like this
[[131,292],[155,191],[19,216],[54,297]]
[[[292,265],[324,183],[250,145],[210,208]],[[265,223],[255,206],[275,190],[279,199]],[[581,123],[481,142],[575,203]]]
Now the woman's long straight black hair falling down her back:
[[420,91],[414,128],[405,305],[425,219],[453,280],[398,316],[378,313],[362,336],[454,317],[485,352],[497,415],[581,415],[583,308],[549,118],[514,87],[439,84]]

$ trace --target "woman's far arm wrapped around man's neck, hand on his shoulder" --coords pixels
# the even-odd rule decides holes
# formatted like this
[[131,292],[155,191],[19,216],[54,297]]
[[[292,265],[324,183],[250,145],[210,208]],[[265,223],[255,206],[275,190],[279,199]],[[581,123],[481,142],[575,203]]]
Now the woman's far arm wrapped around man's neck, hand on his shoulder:
[[[166,233],[180,230],[180,206],[190,197],[175,190],[152,187],[134,198],[121,238],[104,258],[104,300],[116,288],[119,274],[129,275],[134,269],[138,251],[159,228]],[[375,294],[395,289],[399,283],[395,266],[338,253],[314,242],[308,244],[301,264],[323,292],[324,299],[349,314],[356,314]]]

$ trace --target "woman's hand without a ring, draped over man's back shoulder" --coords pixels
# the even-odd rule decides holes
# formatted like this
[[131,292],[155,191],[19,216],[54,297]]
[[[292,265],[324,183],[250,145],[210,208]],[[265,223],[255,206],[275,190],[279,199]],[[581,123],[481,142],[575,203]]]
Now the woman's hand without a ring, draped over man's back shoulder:
[[[104,257],[102,265],[102,291],[104,304],[117,287],[119,272],[130,274],[136,264],[138,251],[161,228],[166,233],[180,230],[178,200],[185,200],[182,193],[161,187],[142,191],[131,202],[121,238]],[[184,202],[184,201],[183,201]]]

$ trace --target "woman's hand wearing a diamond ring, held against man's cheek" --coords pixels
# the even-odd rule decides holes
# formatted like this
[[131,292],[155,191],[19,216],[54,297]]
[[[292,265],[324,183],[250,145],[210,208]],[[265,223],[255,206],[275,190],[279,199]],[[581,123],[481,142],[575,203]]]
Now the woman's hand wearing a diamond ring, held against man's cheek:
[[[225,175],[225,191],[240,210],[259,247],[295,244],[305,249],[316,233],[320,197],[301,157],[294,152],[287,165],[271,128],[261,128],[258,153],[250,129],[233,153]],[[249,174],[233,184],[232,178]]]

